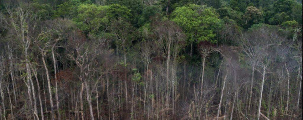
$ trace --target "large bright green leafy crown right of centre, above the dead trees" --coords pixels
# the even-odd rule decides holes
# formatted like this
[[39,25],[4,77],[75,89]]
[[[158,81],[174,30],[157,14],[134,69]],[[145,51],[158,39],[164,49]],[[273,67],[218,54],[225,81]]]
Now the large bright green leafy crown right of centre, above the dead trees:
[[213,8],[188,4],[178,7],[172,12],[172,21],[181,26],[188,37],[188,43],[210,41],[217,43],[214,30],[218,21],[218,14]]

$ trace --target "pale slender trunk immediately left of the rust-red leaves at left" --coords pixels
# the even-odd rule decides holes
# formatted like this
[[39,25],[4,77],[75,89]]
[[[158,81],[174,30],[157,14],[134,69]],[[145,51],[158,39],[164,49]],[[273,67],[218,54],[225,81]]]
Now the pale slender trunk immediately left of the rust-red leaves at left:
[[56,105],[57,105],[57,116],[58,116],[58,120],[60,120],[60,109],[59,109],[59,97],[58,97],[58,83],[57,83],[57,61],[55,59],[55,53],[54,53],[54,48],[52,48],[52,58],[53,58],[53,63],[54,63],[54,71],[55,71],[55,89],[56,89],[56,93],[55,93],[55,96],[56,96]]

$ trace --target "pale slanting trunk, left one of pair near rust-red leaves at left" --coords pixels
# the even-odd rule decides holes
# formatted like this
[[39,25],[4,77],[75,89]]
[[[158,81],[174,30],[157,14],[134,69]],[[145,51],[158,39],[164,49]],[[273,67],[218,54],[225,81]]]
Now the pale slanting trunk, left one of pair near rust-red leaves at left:
[[46,79],[47,79],[47,83],[48,83],[49,101],[50,101],[50,104],[51,104],[51,116],[52,116],[52,120],[55,120],[55,118],[54,118],[55,117],[54,105],[53,105],[53,98],[52,98],[52,89],[51,89],[51,81],[49,79],[48,68],[47,68],[46,63],[45,63],[43,50],[41,50],[41,54],[42,54],[42,62],[43,62],[44,69],[45,69],[45,72],[46,72]]

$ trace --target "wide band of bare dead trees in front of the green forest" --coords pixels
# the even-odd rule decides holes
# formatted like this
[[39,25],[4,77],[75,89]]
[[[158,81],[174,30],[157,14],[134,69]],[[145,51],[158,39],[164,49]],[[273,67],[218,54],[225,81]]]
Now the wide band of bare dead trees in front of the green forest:
[[172,21],[134,42],[124,29],[95,38],[66,19],[39,22],[23,7],[8,14],[1,119],[302,118],[302,38],[266,25],[234,46],[201,42],[191,61]]

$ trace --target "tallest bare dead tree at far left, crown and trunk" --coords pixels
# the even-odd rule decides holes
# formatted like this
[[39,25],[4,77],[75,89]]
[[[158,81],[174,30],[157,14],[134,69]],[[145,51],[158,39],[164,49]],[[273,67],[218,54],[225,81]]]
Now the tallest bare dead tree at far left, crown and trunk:
[[[17,39],[20,41],[20,46],[22,48],[24,59],[25,59],[25,71],[26,71],[26,79],[27,79],[27,88],[28,88],[28,97],[29,97],[29,108],[34,109],[33,117],[38,116],[37,111],[37,103],[35,97],[35,87],[32,81],[32,73],[29,66],[29,49],[32,44],[31,40],[31,32],[35,29],[35,18],[34,15],[31,14],[27,6],[20,5],[17,8],[11,10],[7,7],[8,14],[11,16],[10,21],[6,21],[8,24],[12,26],[13,34],[16,35]],[[33,101],[34,100],[34,105]],[[39,118],[38,118],[39,119]]]

